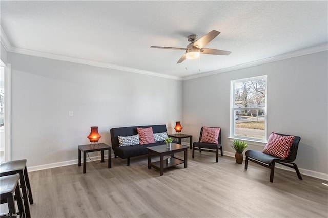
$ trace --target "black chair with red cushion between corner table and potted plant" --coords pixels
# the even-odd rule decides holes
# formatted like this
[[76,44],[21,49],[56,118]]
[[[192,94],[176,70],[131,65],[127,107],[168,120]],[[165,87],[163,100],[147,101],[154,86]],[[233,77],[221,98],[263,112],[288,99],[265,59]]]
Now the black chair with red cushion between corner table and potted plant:
[[195,157],[195,150],[199,150],[200,153],[201,151],[215,152],[216,162],[218,162],[219,150],[221,150],[221,156],[223,155],[221,146],[221,128],[201,127],[199,141],[193,143],[193,158]]

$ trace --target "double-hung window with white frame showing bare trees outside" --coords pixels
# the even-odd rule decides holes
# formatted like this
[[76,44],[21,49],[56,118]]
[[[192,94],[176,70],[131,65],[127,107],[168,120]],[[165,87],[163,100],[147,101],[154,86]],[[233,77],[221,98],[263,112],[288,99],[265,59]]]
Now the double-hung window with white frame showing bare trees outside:
[[267,76],[231,81],[230,136],[267,140]]

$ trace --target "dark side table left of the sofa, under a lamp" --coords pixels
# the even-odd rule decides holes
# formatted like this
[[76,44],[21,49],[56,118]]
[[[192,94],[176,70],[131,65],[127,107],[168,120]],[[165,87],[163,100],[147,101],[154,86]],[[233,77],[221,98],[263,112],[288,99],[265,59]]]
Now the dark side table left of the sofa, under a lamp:
[[104,160],[104,151],[108,150],[108,168],[112,167],[112,147],[105,143],[91,144],[91,145],[79,145],[78,146],[78,166],[81,166],[81,152],[83,152],[83,173],[87,172],[87,153],[94,151],[101,151],[101,161]]

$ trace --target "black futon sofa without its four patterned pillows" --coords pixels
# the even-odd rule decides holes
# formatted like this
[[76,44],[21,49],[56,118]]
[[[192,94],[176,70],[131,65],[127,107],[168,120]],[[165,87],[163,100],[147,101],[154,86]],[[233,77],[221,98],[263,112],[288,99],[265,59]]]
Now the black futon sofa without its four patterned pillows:
[[[120,127],[111,129],[111,140],[112,140],[112,149],[114,151],[115,158],[118,156],[123,159],[128,159],[128,166],[130,165],[130,158],[140,155],[147,155],[147,147],[163,145],[164,141],[159,141],[152,144],[144,145],[130,145],[130,146],[119,146],[118,136],[132,136],[138,134],[137,128],[148,128],[153,127],[153,133],[162,133],[167,131],[166,125],[150,125],[150,126],[132,126],[132,127]],[[173,141],[173,143],[178,143]]]

